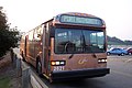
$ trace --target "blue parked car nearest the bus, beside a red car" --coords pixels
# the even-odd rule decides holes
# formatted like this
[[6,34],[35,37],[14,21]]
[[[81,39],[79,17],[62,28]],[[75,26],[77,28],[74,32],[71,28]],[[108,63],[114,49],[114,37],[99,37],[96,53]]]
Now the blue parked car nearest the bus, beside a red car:
[[123,50],[123,48],[112,48],[110,51],[107,52],[107,55],[127,55],[128,51]]

